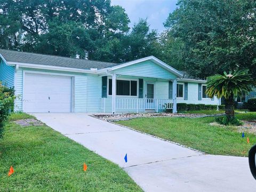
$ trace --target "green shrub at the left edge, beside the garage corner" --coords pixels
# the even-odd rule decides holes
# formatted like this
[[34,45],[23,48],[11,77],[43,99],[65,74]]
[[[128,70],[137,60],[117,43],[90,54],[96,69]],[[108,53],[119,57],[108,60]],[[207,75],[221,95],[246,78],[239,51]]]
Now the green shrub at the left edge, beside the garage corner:
[[0,82],[0,138],[3,137],[4,125],[13,110],[14,89],[3,86]]

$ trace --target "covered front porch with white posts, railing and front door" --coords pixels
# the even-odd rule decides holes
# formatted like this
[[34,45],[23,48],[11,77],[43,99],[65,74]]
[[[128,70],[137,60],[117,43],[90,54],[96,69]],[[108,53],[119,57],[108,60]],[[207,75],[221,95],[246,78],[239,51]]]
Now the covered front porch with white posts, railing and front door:
[[177,79],[109,74],[102,76],[102,113],[177,113]]

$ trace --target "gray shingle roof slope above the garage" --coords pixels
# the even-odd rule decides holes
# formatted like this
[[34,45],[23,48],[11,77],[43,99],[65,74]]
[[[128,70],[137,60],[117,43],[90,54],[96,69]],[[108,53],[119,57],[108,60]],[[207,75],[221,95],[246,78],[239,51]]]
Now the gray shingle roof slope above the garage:
[[76,69],[103,69],[120,65],[119,63],[74,59],[55,55],[10,51],[3,49],[0,49],[0,53],[3,55],[7,62],[30,63],[46,66],[69,67]]

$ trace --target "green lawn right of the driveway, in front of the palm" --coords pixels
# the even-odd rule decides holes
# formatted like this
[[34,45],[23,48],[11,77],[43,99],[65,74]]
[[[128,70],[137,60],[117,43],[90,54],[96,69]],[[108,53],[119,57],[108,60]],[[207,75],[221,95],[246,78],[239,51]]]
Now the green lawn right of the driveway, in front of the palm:
[[[256,119],[256,113],[237,116],[239,119]],[[214,122],[214,117],[149,117],[117,123],[208,154],[247,156],[251,146],[256,143],[255,134],[245,133],[245,138],[242,138],[236,127],[213,126],[211,122]],[[246,137],[250,139],[249,144]]]

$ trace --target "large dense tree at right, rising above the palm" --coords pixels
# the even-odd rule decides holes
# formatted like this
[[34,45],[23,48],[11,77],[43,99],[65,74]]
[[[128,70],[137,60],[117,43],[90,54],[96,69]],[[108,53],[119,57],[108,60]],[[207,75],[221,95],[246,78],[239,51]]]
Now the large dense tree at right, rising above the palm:
[[249,68],[255,77],[255,11],[255,0],[179,0],[165,26],[183,43],[180,54],[191,75]]

